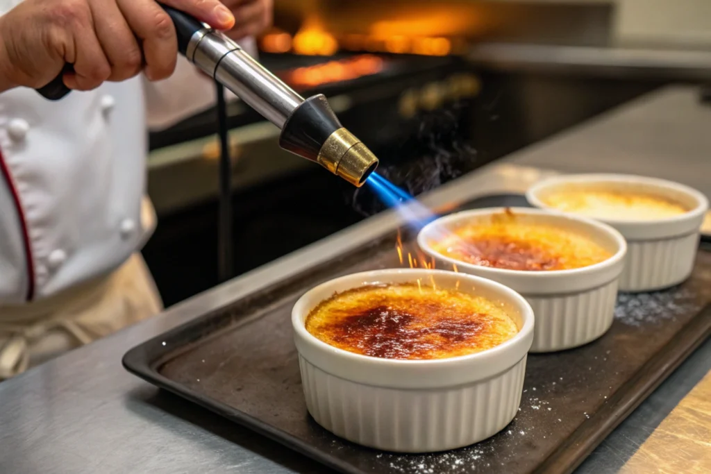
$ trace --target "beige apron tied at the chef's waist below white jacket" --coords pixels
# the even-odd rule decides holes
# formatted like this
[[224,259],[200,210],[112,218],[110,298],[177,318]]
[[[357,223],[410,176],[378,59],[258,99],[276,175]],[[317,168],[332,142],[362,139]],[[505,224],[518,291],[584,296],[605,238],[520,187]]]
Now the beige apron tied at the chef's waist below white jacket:
[[0,306],[0,381],[163,309],[140,253],[111,274],[21,306]]

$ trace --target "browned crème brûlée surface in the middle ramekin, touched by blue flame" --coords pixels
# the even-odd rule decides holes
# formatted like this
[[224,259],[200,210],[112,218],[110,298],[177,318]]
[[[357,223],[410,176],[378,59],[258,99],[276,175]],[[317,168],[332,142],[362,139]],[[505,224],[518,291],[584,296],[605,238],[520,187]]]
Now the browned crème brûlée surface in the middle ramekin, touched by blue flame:
[[577,232],[524,222],[510,210],[493,215],[491,222],[459,227],[430,245],[461,262],[508,270],[576,269],[611,257]]

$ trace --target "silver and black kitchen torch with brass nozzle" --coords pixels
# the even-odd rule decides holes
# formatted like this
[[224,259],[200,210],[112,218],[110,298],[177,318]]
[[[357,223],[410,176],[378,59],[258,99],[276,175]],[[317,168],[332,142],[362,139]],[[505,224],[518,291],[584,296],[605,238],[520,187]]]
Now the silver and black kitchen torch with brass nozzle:
[[[338,122],[324,95],[304,99],[220,31],[161,6],[175,24],[180,53],[278,126],[279,146],[358,187],[375,171],[378,158]],[[67,95],[63,74],[70,68],[38,92],[51,100]]]

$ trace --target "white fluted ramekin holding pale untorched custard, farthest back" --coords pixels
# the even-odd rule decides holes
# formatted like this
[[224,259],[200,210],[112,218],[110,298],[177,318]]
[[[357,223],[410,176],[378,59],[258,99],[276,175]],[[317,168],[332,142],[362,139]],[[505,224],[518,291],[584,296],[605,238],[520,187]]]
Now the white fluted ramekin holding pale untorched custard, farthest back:
[[541,181],[526,193],[531,205],[553,209],[542,202],[549,193],[570,186],[594,185],[616,191],[658,195],[686,206],[682,215],[656,220],[597,219],[611,225],[627,240],[620,291],[652,291],[679,284],[694,267],[700,228],[708,208],[705,195],[688,186],[643,176],[580,174]]

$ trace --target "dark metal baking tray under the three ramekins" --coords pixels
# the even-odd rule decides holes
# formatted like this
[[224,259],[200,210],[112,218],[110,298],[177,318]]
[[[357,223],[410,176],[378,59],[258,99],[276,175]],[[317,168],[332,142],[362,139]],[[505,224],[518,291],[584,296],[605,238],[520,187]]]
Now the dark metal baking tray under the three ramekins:
[[[519,195],[463,208],[525,205]],[[414,232],[403,230],[415,254]],[[468,448],[425,455],[384,453],[321,429],[306,411],[291,308],[335,276],[400,266],[396,235],[353,249],[149,340],[124,366],[158,387],[269,436],[343,473],[565,473],[660,384],[711,332],[711,253],[667,291],[621,294],[602,338],[573,350],[530,355],[518,416]],[[405,260],[407,262],[407,260]],[[705,308],[705,309],[704,309]],[[198,315],[196,315],[198,316]]]

